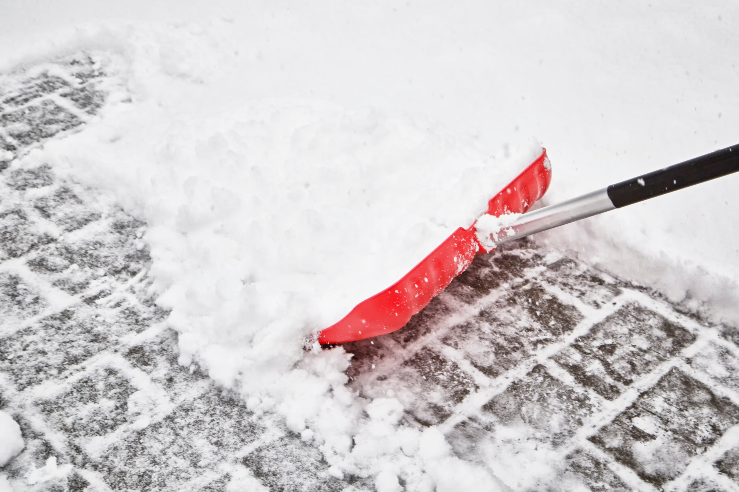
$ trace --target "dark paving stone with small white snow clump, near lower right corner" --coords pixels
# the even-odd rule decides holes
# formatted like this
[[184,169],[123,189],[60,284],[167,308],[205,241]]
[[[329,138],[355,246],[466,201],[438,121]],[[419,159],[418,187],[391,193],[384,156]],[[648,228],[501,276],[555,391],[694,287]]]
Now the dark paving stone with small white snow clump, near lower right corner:
[[739,407],[672,369],[590,440],[661,486],[736,423]]

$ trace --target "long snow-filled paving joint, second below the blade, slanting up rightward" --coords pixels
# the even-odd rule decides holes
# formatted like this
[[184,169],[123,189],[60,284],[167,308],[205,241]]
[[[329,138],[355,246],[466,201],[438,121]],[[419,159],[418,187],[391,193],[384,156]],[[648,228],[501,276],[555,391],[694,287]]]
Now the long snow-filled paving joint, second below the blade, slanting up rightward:
[[590,315],[585,316],[585,318],[582,319],[575,328],[573,328],[571,333],[562,337],[559,343],[554,343],[540,348],[533,356],[521,361],[517,367],[514,367],[495,378],[489,387],[479,389],[477,392],[471,393],[464,398],[463,401],[458,403],[457,406],[454,406],[452,415],[443,423],[439,424],[440,431],[444,434],[451,432],[452,429],[454,429],[454,426],[463,420],[466,420],[467,417],[477,413],[483,405],[491,400],[491,398],[494,398],[505,391],[505,389],[507,389],[514,381],[518,381],[523,378],[531,371],[531,369],[534,368],[534,366],[542,364],[542,362],[547,358],[553,356],[555,353],[559,352],[559,350],[562,350],[563,347],[567,347],[569,344],[574,342],[577,337],[588,333],[590,328],[593,328],[593,325],[596,325],[596,323],[601,322],[607,316],[610,316],[610,314],[618,311],[622,305],[623,302],[621,301],[621,296],[617,296],[613,298],[612,304],[608,305],[608,308],[605,308],[605,306],[599,310],[590,308],[590,310],[588,310],[591,311]]

